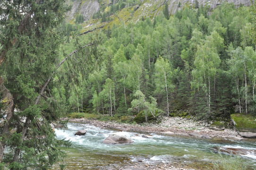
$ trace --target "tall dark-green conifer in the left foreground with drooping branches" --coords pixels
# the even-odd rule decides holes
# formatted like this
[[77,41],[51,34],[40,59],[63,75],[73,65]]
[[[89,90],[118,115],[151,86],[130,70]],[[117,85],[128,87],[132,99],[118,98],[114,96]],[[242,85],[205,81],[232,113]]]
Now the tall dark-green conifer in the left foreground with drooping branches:
[[0,1],[1,167],[47,170],[65,155],[50,126],[60,117],[50,80],[65,61],[56,27],[68,9],[66,0]]

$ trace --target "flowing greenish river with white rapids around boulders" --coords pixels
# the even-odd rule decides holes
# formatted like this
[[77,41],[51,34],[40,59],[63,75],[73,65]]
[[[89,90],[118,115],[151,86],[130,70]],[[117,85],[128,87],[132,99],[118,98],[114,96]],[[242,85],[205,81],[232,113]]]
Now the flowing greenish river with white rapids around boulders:
[[[87,130],[85,136],[74,136],[81,129]],[[132,144],[103,144],[102,141],[111,134],[121,133],[131,138]],[[211,168],[213,163],[220,163],[223,157],[215,153],[214,148],[244,148],[252,150],[242,157],[251,169],[256,167],[256,142],[232,141],[221,139],[202,139],[182,136],[162,136],[157,134],[119,132],[103,129],[88,124],[68,123],[68,128],[56,129],[58,139],[70,140],[72,146],[62,148],[67,158],[67,170],[103,170],[109,166],[124,166],[133,162],[147,164],[177,163],[195,169]],[[53,170],[60,170],[56,164]]]

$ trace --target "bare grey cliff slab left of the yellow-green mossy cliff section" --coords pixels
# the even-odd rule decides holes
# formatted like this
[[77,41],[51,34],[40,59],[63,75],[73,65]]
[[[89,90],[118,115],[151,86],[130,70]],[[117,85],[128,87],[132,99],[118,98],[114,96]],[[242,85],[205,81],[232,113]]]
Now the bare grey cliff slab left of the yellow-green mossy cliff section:
[[100,4],[97,0],[75,0],[72,9],[68,12],[68,21],[76,18],[77,14],[82,14],[85,21],[91,19],[94,13],[100,10]]

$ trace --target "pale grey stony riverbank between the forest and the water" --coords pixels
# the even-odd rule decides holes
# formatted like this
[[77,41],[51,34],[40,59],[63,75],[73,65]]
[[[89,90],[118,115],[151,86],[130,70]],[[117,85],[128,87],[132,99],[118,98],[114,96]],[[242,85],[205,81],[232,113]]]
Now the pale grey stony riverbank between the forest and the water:
[[[68,118],[64,118],[67,120]],[[70,122],[80,122],[94,125],[102,128],[113,128],[120,131],[130,131],[139,133],[157,133],[162,135],[193,136],[202,138],[223,138],[242,140],[235,129],[212,130],[210,125],[203,121],[194,121],[192,119],[182,119],[179,117],[164,118],[159,124],[145,123],[142,125],[124,124],[116,122],[104,122],[89,119],[69,119]]]

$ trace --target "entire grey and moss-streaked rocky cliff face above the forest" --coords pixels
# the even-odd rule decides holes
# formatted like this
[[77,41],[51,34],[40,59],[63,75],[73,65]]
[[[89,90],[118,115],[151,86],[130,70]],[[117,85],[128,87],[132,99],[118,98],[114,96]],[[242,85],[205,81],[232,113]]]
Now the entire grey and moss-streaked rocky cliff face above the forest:
[[[223,2],[227,1],[229,3],[234,3],[235,6],[240,4],[249,6],[251,5],[251,0],[197,0],[199,6],[210,5],[211,9],[217,8]],[[115,4],[116,0],[70,0],[69,4],[72,5],[71,11],[68,12],[68,22],[74,23],[73,21],[78,14],[84,16],[85,21],[92,19],[94,13],[101,9],[101,12],[112,3]],[[179,2],[181,6],[178,8]],[[94,19],[89,22],[85,22],[83,26],[83,32],[99,28],[101,26],[112,26],[113,24],[120,24],[121,22],[136,23],[142,17],[154,18],[163,11],[165,4],[168,4],[169,11],[171,15],[174,15],[176,11],[184,8],[185,6],[194,6],[196,0],[140,0],[140,5],[135,5],[134,7],[123,8],[117,15],[111,16],[111,22],[101,23],[101,19]],[[102,10],[103,9],[103,10]]]

